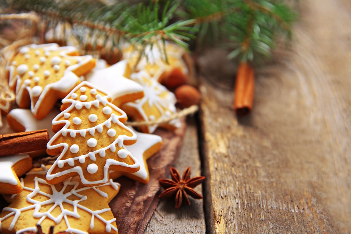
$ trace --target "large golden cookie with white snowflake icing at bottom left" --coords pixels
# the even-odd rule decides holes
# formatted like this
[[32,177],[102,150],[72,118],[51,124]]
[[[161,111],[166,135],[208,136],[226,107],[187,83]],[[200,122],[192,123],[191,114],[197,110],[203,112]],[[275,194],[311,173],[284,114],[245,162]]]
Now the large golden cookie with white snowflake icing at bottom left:
[[21,233],[55,226],[55,232],[117,234],[108,202],[117,195],[119,183],[109,180],[100,186],[84,187],[73,178],[50,185],[47,169],[32,169],[21,178],[23,191],[11,198],[0,214],[2,233]]

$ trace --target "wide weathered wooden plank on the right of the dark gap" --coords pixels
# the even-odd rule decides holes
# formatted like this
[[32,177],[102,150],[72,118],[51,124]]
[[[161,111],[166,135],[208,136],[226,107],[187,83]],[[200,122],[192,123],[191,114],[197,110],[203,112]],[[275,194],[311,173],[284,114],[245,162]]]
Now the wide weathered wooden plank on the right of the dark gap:
[[[227,74],[202,83],[208,233],[351,231],[351,4],[300,4],[291,53],[256,71],[250,116],[219,88]],[[209,54],[202,68],[226,66]]]

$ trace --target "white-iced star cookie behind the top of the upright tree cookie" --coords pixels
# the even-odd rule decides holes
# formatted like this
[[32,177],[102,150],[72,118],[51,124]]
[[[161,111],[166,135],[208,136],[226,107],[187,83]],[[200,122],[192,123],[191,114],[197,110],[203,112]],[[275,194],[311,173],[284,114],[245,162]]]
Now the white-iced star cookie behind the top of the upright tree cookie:
[[86,76],[86,80],[111,94],[112,103],[120,106],[144,96],[143,87],[127,79],[131,69],[127,61],[120,61],[110,67],[97,69]]

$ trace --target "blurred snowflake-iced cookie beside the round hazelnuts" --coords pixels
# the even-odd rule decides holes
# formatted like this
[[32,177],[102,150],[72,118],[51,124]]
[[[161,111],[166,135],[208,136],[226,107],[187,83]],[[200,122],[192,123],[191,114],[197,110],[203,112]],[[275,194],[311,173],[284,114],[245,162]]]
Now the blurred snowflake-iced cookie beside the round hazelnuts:
[[[144,88],[142,99],[128,102],[122,105],[122,109],[135,121],[153,121],[166,118],[177,112],[174,94],[167,90],[157,80],[152,79],[146,71],[133,73],[131,79],[139,83]],[[180,127],[179,119],[159,125],[166,129]],[[158,125],[140,126],[140,130],[145,133],[153,133]]]

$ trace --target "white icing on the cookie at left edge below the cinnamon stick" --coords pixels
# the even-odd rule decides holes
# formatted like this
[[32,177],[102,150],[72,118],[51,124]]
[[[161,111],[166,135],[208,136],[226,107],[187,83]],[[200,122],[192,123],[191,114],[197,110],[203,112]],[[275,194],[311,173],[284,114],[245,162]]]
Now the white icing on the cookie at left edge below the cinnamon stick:
[[22,159],[29,158],[26,154],[10,155],[0,157],[0,182],[9,183],[10,185],[17,185],[17,176],[12,171],[12,167]]

